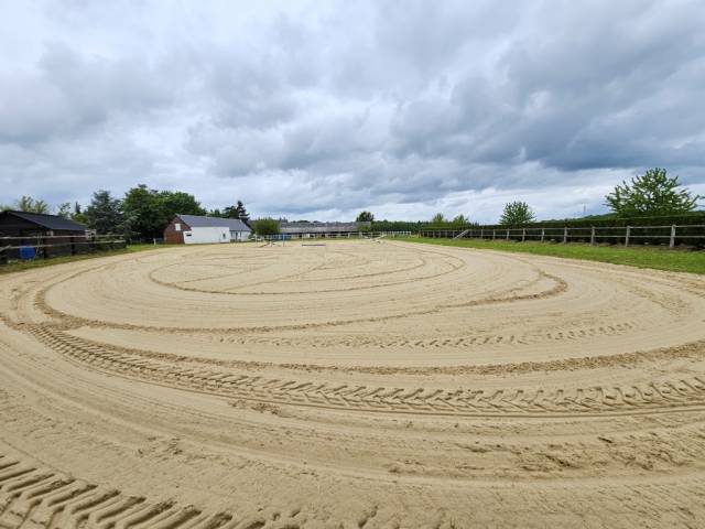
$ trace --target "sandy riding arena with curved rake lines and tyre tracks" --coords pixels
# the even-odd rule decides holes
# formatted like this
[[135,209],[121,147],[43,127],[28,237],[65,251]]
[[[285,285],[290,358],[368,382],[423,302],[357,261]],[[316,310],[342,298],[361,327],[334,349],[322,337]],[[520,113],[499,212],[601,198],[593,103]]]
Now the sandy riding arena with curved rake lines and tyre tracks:
[[420,244],[0,279],[0,528],[703,527],[705,281]]

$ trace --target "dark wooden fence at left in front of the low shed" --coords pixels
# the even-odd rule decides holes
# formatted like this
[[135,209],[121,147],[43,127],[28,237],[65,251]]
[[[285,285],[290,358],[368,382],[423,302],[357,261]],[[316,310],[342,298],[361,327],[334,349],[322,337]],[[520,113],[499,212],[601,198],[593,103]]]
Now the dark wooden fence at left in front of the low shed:
[[116,250],[127,246],[122,237],[112,235],[35,235],[0,237],[0,264],[17,260],[50,259],[96,251]]

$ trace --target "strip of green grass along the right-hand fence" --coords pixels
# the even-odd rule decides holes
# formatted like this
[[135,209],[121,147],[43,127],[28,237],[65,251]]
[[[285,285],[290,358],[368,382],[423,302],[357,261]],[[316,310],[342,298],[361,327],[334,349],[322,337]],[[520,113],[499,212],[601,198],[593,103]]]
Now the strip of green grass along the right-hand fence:
[[588,261],[628,264],[673,272],[705,274],[705,251],[669,250],[665,248],[623,248],[617,246],[588,246],[579,244],[516,242],[481,239],[427,239],[410,237],[404,240],[426,245],[478,248],[485,250],[518,251],[540,256],[583,259]]

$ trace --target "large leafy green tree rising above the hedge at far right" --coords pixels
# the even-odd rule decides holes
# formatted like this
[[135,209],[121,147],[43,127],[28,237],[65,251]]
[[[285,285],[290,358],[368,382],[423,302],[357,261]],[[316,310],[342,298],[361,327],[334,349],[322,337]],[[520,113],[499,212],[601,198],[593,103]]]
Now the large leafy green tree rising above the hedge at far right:
[[639,215],[679,215],[697,207],[699,195],[680,190],[679,177],[669,177],[665,169],[654,168],[631,179],[631,185],[622,181],[605,197],[620,217]]

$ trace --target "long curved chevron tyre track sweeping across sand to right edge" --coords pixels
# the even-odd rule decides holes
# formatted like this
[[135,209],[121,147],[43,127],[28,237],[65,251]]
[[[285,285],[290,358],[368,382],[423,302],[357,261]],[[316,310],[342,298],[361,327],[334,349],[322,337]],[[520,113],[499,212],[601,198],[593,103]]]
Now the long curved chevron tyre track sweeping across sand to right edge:
[[224,398],[279,404],[366,412],[480,417],[628,415],[675,409],[705,409],[705,377],[698,376],[625,387],[539,387],[492,391],[316,384],[151,360],[111,350],[46,326],[25,326],[25,331],[66,358],[101,371]]

